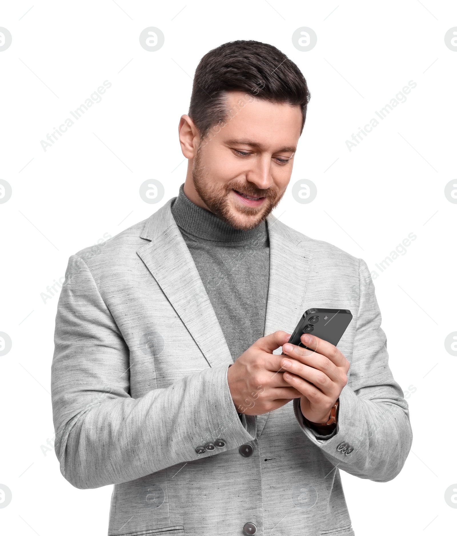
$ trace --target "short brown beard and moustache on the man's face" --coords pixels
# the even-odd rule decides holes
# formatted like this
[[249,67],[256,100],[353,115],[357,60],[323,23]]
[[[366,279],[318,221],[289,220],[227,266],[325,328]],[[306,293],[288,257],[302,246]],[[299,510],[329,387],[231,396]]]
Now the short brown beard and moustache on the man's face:
[[[238,179],[233,179],[217,187],[211,184],[208,170],[203,166],[199,152],[197,152],[194,158],[192,180],[196,192],[209,210],[227,224],[240,230],[249,230],[257,227],[257,225],[267,218],[285,193],[285,190],[281,192],[276,185],[270,186],[267,190],[261,190],[256,188],[251,182],[240,181]],[[243,218],[230,206],[228,196],[232,190],[237,190],[251,197],[265,197],[266,200],[264,200],[260,208],[237,206],[236,211],[244,215],[245,217]]]

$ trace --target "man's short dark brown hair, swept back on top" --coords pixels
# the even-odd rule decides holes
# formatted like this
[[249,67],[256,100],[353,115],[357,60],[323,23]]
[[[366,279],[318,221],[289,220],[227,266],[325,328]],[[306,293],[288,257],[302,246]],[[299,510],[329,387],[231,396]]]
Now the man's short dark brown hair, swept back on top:
[[204,138],[224,122],[228,91],[244,91],[257,99],[300,106],[303,121],[311,94],[300,69],[271,44],[230,41],[205,54],[195,70],[189,117]]

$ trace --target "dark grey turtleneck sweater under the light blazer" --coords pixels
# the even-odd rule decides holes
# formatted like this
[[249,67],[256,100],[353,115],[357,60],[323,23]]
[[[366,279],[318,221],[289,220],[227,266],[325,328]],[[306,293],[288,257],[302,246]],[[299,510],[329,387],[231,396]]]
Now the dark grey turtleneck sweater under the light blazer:
[[191,202],[183,186],[171,211],[235,360],[264,335],[270,276],[267,224],[235,229]]

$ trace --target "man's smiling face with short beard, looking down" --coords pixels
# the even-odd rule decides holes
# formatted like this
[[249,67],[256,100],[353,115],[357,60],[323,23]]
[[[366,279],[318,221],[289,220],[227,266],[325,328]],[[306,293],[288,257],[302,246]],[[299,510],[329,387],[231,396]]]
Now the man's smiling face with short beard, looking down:
[[260,224],[284,195],[302,122],[299,106],[227,94],[225,123],[194,157],[194,188],[208,209],[237,229]]

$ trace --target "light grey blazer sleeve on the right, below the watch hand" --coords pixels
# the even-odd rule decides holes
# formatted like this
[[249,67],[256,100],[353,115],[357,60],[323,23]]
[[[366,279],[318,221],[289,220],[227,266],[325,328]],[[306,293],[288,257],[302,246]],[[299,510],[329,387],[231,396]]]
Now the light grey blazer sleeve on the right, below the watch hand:
[[381,312],[364,260],[359,259],[359,308],[348,384],[340,395],[336,433],[316,437],[300,411],[294,412],[309,439],[343,471],[377,482],[401,471],[412,442],[408,404],[388,366]]

